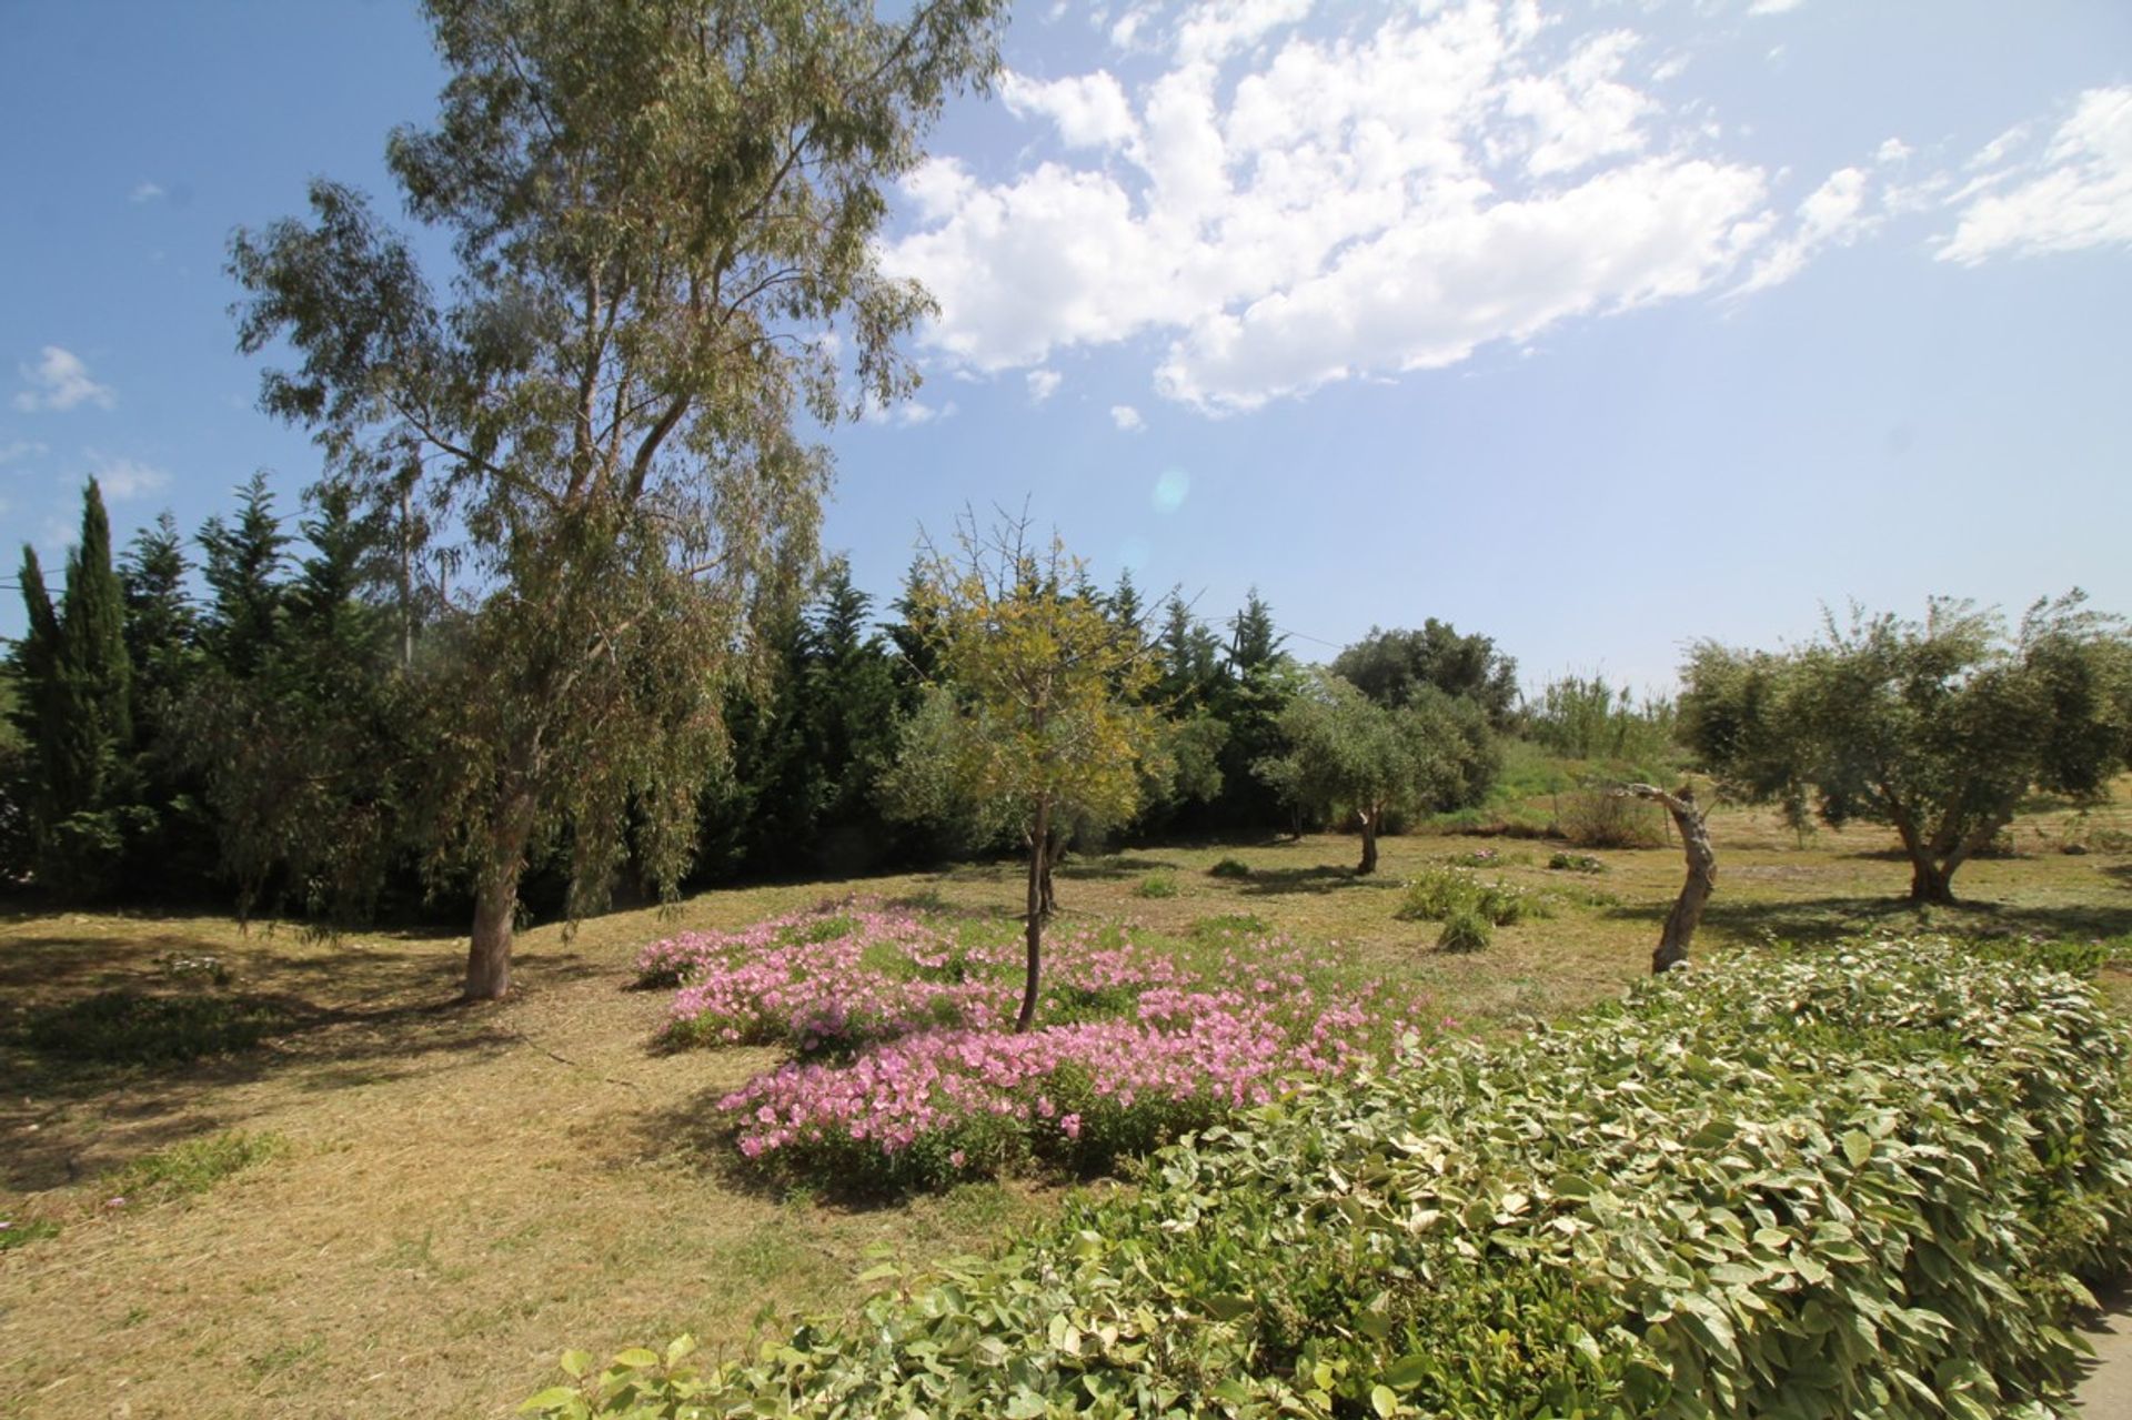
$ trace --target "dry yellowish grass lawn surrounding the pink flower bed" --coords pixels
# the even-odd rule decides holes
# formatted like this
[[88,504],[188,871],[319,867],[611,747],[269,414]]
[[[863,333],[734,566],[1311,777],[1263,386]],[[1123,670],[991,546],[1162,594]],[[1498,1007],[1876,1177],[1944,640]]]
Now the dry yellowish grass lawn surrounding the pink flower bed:
[[[2132,827],[2119,802],[2096,825]],[[1708,945],[1842,930],[2132,932],[2132,859],[2072,857],[2068,814],[2019,829],[2021,857],[1964,868],[1983,906],[1923,923],[1895,895],[1883,834],[1804,846],[1765,814],[1723,812]],[[1569,893],[1471,957],[1439,955],[1431,923],[1392,919],[1405,874],[1495,846],[1499,874]],[[1185,932],[1249,913],[1371,970],[1424,981],[1482,1028],[1620,989],[1680,878],[1669,849],[1601,853],[1605,874],[1550,872],[1550,844],[1394,838],[1384,870],[1347,872],[1354,842],[1143,849],[1066,866],[1072,919]],[[1224,859],[1249,876],[1211,876]],[[1170,898],[1136,889],[1151,874]],[[740,1185],[706,1136],[708,1102],[765,1051],[657,1055],[665,996],[627,991],[633,951],[680,925],[740,925],[853,889],[1006,919],[1008,866],[868,883],[708,893],[678,913],[618,913],[565,940],[520,945],[522,994],[448,1006],[461,942],[292,932],[220,919],[17,917],[0,925],[0,1034],[100,989],[179,989],[156,964],[211,953],[230,991],[296,1021],[264,1049],[190,1066],[55,1066],[0,1047],[0,1217],[62,1226],[0,1252],[4,1416],[499,1416],[546,1384],[565,1345],[695,1330],[742,1345],[791,1311],[838,1311],[887,1245],[921,1262],[985,1247],[1055,1203],[1047,1188],[964,1188],[878,1209]],[[102,1207],[98,1179],[226,1130],[286,1147],[190,1200]]]

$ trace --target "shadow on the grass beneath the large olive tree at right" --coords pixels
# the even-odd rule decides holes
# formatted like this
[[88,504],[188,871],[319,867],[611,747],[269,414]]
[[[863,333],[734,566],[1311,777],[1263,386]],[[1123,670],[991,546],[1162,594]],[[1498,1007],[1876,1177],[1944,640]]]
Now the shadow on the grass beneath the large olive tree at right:
[[[1667,904],[1608,908],[1622,921],[1659,921]],[[1725,902],[1703,910],[1703,930],[1729,942],[1829,945],[1861,934],[1932,936],[2038,936],[2047,940],[2094,940],[2132,932],[2132,904],[1957,902],[1925,906],[1906,898],[1799,898],[1780,902]]]

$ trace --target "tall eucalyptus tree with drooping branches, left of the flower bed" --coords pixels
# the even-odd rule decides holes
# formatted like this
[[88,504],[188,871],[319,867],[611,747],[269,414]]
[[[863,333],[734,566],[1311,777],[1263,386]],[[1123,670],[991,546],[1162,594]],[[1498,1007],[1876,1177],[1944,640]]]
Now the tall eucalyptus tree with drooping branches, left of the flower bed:
[[426,9],[441,113],[386,158],[450,279],[333,181],[230,267],[241,348],[294,352],[264,407],[458,559],[411,669],[420,838],[473,883],[465,991],[495,998],[542,844],[567,844],[571,913],[631,846],[661,889],[687,866],[718,689],[814,556],[829,458],[793,420],[915,388],[895,339],[930,303],[878,267],[881,188],[994,70],[1004,0]]

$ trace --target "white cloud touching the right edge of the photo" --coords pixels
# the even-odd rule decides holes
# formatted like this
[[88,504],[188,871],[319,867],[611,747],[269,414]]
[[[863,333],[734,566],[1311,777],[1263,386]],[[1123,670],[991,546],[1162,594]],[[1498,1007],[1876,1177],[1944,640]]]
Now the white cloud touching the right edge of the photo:
[[[2004,162],[2021,136],[2002,134],[1970,168]],[[2040,158],[1985,173],[1949,200],[1964,207],[1938,252],[1947,262],[2132,245],[2132,87],[2087,90]]]

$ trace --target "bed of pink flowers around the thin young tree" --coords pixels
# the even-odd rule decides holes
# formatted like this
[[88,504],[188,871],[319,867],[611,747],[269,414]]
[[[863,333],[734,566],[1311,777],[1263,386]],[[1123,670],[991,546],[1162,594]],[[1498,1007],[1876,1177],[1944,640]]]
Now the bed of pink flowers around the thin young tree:
[[791,1049],[718,1102],[740,1151],[846,1185],[1100,1168],[1433,1030],[1426,998],[1247,919],[1188,940],[1060,932],[1038,1026],[1015,1034],[1021,970],[998,927],[866,902],[637,957],[640,981],[678,987],[665,1045]]

